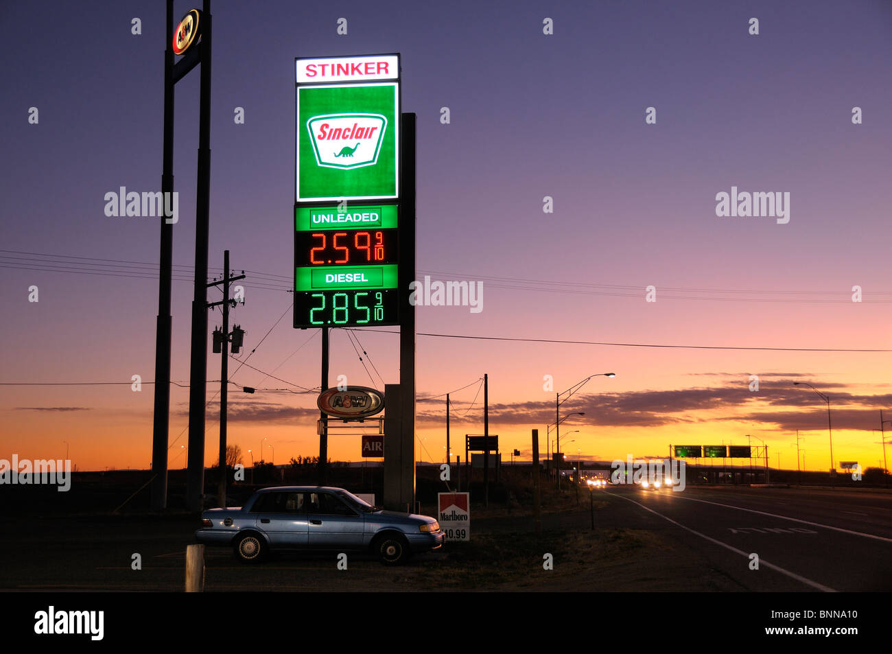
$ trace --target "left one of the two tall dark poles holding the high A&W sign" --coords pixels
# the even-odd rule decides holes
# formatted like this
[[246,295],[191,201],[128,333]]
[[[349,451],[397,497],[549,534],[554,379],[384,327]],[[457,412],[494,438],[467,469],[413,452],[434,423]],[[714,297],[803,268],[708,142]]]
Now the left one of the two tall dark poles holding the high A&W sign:
[[[164,136],[161,196],[173,193],[173,0],[164,20]],[[172,202],[168,205],[172,206]],[[155,398],[152,426],[152,509],[167,509],[167,465],[170,421],[170,283],[173,274],[173,223],[161,220],[158,316],[155,321]]]

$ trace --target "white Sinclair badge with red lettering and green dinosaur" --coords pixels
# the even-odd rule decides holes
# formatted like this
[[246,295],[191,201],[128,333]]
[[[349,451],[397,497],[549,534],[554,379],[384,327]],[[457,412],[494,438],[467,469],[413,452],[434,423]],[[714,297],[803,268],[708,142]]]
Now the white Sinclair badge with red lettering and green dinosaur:
[[351,170],[377,163],[387,119],[380,113],[329,113],[307,120],[307,131],[318,166]]

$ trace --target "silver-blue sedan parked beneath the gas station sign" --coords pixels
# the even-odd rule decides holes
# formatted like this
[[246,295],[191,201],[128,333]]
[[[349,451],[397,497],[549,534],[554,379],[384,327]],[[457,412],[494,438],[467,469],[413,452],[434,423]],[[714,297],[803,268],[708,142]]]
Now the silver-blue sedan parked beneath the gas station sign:
[[442,547],[445,535],[429,516],[384,511],[328,486],[278,486],[254,493],[244,507],[202,513],[198,542],[227,545],[245,563],[270,551],[369,551],[385,564]]

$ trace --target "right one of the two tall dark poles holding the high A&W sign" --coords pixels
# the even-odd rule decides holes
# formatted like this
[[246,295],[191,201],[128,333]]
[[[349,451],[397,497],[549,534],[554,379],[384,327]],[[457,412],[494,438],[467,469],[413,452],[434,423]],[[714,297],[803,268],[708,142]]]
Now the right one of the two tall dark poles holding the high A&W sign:
[[195,280],[189,363],[189,469],[186,510],[204,508],[204,408],[208,385],[208,231],[211,206],[211,0],[203,0],[198,116],[198,184],[195,195]]

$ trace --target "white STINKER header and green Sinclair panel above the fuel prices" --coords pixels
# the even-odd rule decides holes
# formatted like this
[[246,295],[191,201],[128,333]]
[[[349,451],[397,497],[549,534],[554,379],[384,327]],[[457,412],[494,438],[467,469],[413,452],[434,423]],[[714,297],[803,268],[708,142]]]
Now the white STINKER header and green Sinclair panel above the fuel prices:
[[398,198],[398,55],[295,63],[295,202]]

